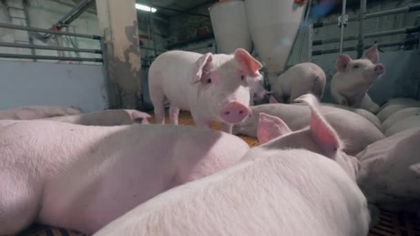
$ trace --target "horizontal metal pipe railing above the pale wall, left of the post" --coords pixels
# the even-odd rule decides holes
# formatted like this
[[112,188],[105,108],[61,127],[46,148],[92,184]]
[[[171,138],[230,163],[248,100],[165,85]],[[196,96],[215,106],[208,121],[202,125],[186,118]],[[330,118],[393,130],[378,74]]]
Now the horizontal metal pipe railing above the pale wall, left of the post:
[[[17,26],[10,23],[0,23],[0,28],[8,28],[12,30],[24,30],[29,32],[41,32],[50,35],[66,35],[70,37],[78,37],[84,39],[93,39],[99,41],[99,45],[102,44],[102,37],[99,35],[86,35],[73,32],[64,32],[59,30],[47,30],[43,28],[33,28],[28,26]],[[0,47],[6,48],[30,48],[38,50],[55,50],[55,51],[67,51],[67,52],[85,52],[93,55],[102,55],[101,49],[87,49],[87,48],[68,48],[60,46],[41,46],[35,44],[26,43],[7,43],[0,42]],[[57,60],[57,61],[92,61],[103,63],[103,59],[97,57],[59,57],[59,56],[44,56],[44,55],[23,55],[23,54],[8,54],[0,53],[0,58],[14,58],[14,59],[41,59],[41,60]]]

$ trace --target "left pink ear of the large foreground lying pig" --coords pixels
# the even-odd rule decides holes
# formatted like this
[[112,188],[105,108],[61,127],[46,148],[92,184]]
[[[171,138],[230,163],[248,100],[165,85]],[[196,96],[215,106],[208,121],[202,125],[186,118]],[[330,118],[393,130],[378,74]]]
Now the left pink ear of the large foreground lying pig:
[[267,141],[286,135],[289,132],[292,132],[292,130],[280,118],[260,113],[257,127],[257,136],[260,144],[265,144]]

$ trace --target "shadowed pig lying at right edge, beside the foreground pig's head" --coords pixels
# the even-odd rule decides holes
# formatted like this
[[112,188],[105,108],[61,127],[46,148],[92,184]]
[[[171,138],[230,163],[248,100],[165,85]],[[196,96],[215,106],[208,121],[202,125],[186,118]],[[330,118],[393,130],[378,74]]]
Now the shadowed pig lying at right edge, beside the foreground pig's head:
[[357,182],[370,204],[420,213],[419,140],[420,128],[411,128],[370,144],[356,156],[361,164]]

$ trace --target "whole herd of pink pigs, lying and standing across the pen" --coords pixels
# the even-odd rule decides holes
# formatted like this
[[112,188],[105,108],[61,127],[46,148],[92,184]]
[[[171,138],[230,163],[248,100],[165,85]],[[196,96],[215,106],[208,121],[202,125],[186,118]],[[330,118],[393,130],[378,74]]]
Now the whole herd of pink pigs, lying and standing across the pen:
[[[271,78],[269,92],[261,68],[242,49],[163,53],[149,70],[157,124],[137,110],[0,111],[0,235],[39,222],[95,235],[360,236],[379,208],[420,212],[420,101],[370,99],[385,72],[376,46],[338,57],[336,104],[320,103],[314,63]],[[197,127],[178,126],[180,110]]]

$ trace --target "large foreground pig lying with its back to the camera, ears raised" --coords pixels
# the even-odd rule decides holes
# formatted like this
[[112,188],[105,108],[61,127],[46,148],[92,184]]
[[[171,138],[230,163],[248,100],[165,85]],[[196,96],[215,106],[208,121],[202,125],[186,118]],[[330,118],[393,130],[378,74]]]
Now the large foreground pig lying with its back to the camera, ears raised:
[[309,128],[291,132],[262,113],[258,134],[267,143],[239,164],[162,193],[95,235],[367,235],[357,161],[314,101],[302,99],[312,108]]

